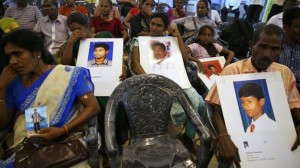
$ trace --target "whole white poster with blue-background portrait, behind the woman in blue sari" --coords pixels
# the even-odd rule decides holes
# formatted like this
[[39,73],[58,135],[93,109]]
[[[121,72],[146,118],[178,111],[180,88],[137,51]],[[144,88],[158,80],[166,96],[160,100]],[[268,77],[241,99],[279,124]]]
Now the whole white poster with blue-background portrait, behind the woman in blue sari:
[[81,40],[76,66],[91,72],[96,96],[110,96],[120,84],[122,74],[123,39],[89,38]]

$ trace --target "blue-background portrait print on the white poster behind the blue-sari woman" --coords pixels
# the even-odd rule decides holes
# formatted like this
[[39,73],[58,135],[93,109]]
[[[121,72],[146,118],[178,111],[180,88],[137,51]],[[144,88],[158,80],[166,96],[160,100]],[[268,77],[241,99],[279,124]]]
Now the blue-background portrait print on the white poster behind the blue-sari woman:
[[88,67],[111,66],[113,42],[91,42]]

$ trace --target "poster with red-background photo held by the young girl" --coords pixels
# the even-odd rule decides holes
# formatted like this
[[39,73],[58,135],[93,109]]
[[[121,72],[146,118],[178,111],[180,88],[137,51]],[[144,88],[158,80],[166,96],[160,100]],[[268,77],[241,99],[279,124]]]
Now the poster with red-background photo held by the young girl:
[[223,56],[199,59],[205,66],[206,73],[198,72],[198,76],[203,81],[205,86],[210,89],[216,81],[216,77],[222,72],[226,62]]

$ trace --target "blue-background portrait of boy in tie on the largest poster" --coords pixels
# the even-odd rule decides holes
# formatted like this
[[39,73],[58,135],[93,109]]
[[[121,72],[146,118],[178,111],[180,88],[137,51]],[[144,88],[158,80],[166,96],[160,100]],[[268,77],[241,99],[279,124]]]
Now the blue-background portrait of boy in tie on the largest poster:
[[275,130],[276,120],[265,79],[233,82],[246,133]]

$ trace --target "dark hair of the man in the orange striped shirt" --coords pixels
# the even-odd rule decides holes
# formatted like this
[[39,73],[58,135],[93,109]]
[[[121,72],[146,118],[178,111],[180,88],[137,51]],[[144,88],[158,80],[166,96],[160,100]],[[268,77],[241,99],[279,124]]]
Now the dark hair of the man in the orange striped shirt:
[[280,28],[277,25],[268,24],[268,25],[262,26],[262,27],[258,28],[257,30],[255,30],[254,34],[253,34],[253,39],[252,39],[253,44],[256,44],[256,42],[259,40],[259,36],[261,33],[265,33],[267,35],[275,34],[276,36],[280,37],[281,44],[283,43],[284,32],[283,32],[282,28]]

